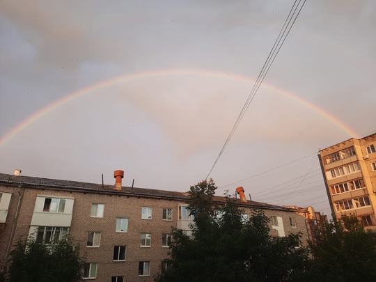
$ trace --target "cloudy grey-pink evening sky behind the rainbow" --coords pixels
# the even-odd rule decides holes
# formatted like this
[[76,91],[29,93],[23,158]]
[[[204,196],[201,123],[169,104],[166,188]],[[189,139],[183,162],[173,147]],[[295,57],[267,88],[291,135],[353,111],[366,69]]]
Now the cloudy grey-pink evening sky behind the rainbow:
[[[187,191],[294,1],[0,1],[0,172]],[[306,1],[210,177],[329,214],[317,152],[376,132],[376,2]]]

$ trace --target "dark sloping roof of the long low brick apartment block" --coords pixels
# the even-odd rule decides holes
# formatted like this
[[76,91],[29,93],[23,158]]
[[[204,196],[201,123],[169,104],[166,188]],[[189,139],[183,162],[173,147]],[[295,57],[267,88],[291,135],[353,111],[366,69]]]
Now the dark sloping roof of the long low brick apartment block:
[[[116,194],[123,196],[136,196],[148,198],[166,198],[175,201],[187,202],[187,192],[166,191],[159,189],[146,189],[137,187],[122,187],[121,191],[114,189],[113,185],[101,185],[88,182],[78,182],[71,180],[57,180],[49,178],[37,178],[33,176],[11,175],[0,173],[0,185],[3,186],[22,186],[32,189],[58,189],[67,191],[86,192],[93,194]],[[224,203],[226,198],[223,196],[214,196],[214,203]],[[290,207],[283,207],[279,205],[270,205],[267,203],[260,203],[255,201],[241,202],[237,199],[237,205],[242,207],[262,208],[267,210],[283,210],[288,212],[296,212],[297,210]],[[304,210],[299,210],[304,212]]]

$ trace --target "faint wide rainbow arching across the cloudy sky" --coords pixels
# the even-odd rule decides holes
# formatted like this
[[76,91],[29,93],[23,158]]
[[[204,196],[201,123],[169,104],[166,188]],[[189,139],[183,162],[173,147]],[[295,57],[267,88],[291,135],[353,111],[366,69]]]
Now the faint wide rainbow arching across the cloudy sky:
[[[69,95],[66,95],[65,97],[56,100],[55,102],[47,105],[47,107],[42,108],[40,111],[33,113],[33,115],[29,116],[25,120],[23,120],[21,123],[19,123],[17,126],[15,126],[12,130],[7,132],[1,139],[0,139],[0,147],[4,146],[10,139],[15,137],[19,132],[24,130],[24,128],[28,127],[32,123],[35,123],[37,120],[45,116],[50,111],[53,111],[54,109],[63,106],[63,104],[66,104],[68,102],[71,102],[72,100],[77,99],[78,97],[82,97],[84,95],[88,95],[92,93],[93,91],[100,90],[102,88],[106,88],[109,86],[113,86],[116,84],[121,84],[127,81],[134,81],[137,79],[146,79],[149,77],[164,77],[164,76],[171,76],[171,75],[199,75],[203,77],[219,77],[221,79],[232,79],[234,81],[241,81],[246,84],[254,84],[255,80],[251,79],[249,77],[244,77],[241,75],[233,75],[228,74],[225,72],[217,72],[212,70],[153,70],[148,72],[137,72],[132,75],[122,75],[119,77],[114,77],[111,79],[107,79],[105,81],[101,81],[97,84],[93,84],[91,86],[87,86],[85,88],[81,88],[78,91],[75,91],[73,93],[70,93]],[[341,120],[336,118],[335,116],[331,115],[327,111],[324,111],[317,105],[313,104],[312,102],[308,102],[307,100],[304,100],[303,98],[290,93],[288,91],[285,91],[281,88],[277,88],[276,86],[272,86],[270,84],[265,84],[265,82],[262,84],[263,88],[266,88],[268,90],[274,91],[276,93],[279,93],[281,95],[284,95],[285,97],[290,98],[291,100],[295,100],[296,102],[303,104],[305,107],[308,107],[312,109],[313,111],[317,112],[321,116],[324,116],[324,118],[327,118],[327,120],[330,120],[331,123],[334,123],[337,127],[340,128],[340,130],[343,130],[346,132],[350,137],[357,137],[359,134],[352,130],[349,126],[345,125]]]

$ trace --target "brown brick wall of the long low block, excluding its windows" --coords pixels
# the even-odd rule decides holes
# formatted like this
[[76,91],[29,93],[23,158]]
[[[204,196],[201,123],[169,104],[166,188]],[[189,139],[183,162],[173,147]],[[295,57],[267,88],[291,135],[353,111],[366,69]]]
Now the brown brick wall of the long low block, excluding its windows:
[[[18,203],[17,187],[0,187],[0,191],[11,192],[13,196],[10,201],[8,218],[3,232],[0,235],[0,249],[5,250],[8,246],[13,219]],[[73,217],[70,226],[70,235],[81,244],[83,251],[86,251],[87,263],[97,263],[97,276],[95,281],[111,281],[111,276],[124,276],[124,281],[153,281],[154,276],[159,273],[161,261],[167,257],[169,248],[162,247],[162,234],[170,233],[172,226],[178,226],[178,205],[182,201],[148,198],[141,196],[124,196],[116,194],[97,194],[84,191],[65,191],[64,189],[42,189],[42,188],[21,188],[24,193],[19,209],[19,217],[15,228],[13,243],[17,237],[26,239],[31,224],[31,217],[36,205],[38,195],[52,197],[73,197]],[[102,218],[91,217],[91,204],[104,204]],[[141,208],[152,207],[152,219],[141,219]],[[171,208],[173,220],[162,219],[163,208]],[[276,216],[283,220],[285,234],[304,233],[303,242],[306,242],[307,232],[305,219],[295,212],[264,209],[267,217]],[[250,210],[246,212],[251,215]],[[116,233],[116,218],[128,219],[128,232]],[[295,217],[297,227],[290,227],[289,217]],[[100,232],[101,240],[99,247],[88,247],[86,242],[88,232]],[[141,247],[141,233],[151,234],[151,246]],[[278,236],[276,230],[271,230],[272,236]],[[13,244],[12,243],[12,244]],[[113,261],[113,247],[127,246],[125,261]],[[2,254],[5,252],[1,252]],[[5,254],[4,254],[5,255]],[[3,260],[3,256],[0,260]],[[139,276],[139,262],[150,262],[150,276]]]

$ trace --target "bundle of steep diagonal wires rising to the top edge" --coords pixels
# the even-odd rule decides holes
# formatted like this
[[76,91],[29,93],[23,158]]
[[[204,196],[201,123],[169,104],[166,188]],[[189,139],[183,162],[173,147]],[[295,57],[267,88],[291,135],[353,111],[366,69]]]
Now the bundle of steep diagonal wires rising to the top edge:
[[[258,78],[256,79],[255,84],[253,85],[251,93],[249,93],[249,96],[248,96],[248,98],[247,98],[247,100],[246,100],[246,102],[245,102],[245,104],[242,108],[242,111],[240,111],[240,114],[237,117],[235,124],[233,125],[233,129],[230,131],[230,134],[228,134],[228,137],[227,137],[227,139],[224,143],[224,146],[221,148],[221,151],[219,152],[217,159],[215,159],[215,162],[212,165],[212,168],[210,169],[209,173],[207,173],[205,180],[207,180],[210,173],[212,173],[214,166],[217,164],[219,158],[221,157],[222,153],[224,152],[228,143],[230,142],[230,139],[233,137],[233,134],[235,133],[235,130],[237,129],[238,125],[240,124],[240,122],[241,122],[241,120],[244,116],[244,113],[249,108],[249,105],[251,104],[253,98],[255,97],[255,95],[258,91],[258,88],[260,88],[260,85],[263,83],[263,80],[265,79],[267,72],[269,72],[269,68],[272,66],[272,63],[274,62],[276,55],[279,53],[279,50],[281,49],[283,43],[285,42],[285,39],[288,36],[288,33],[290,33],[292,26],[295,24],[295,21],[296,21],[297,17],[299,16],[301,8],[303,8],[304,3],[306,3],[306,0],[304,0],[304,2],[301,5],[299,11],[297,12],[297,8],[299,7],[299,4],[301,3],[301,1],[302,0],[299,0],[299,2],[297,3],[297,0],[295,0],[294,4],[292,5],[290,13],[288,14],[288,17],[285,19],[285,23],[283,24],[282,29],[279,32],[279,36],[276,38],[276,41],[274,42],[274,45],[273,45],[272,49],[270,50],[269,55],[267,56],[267,60],[265,61],[263,68],[260,71],[260,74],[258,75]],[[296,3],[297,3],[297,5],[295,6]],[[293,12],[292,12],[292,10],[293,10]],[[293,19],[293,21],[292,21],[292,19]],[[291,21],[292,21],[292,24],[290,24]],[[289,25],[290,25],[290,28],[288,28]],[[288,30],[288,32],[285,33],[287,30]],[[283,38],[283,40],[282,40],[282,38]],[[282,40],[282,42],[281,42],[281,40]],[[280,44],[280,42],[281,42],[281,44]],[[276,49],[277,49],[277,51],[276,51]]]

